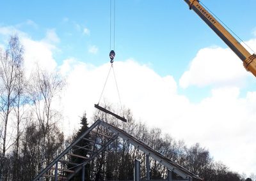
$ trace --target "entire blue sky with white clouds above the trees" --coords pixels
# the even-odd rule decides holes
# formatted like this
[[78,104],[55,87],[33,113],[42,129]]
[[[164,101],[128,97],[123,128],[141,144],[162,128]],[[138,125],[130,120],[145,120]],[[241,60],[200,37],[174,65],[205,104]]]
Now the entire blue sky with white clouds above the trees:
[[[256,51],[255,0],[202,3]],[[107,0],[1,2],[0,47],[18,34],[27,75],[39,64],[66,78],[57,106],[68,131],[99,101],[113,48],[109,11]],[[115,52],[122,105],[136,120],[256,173],[256,79],[184,1],[116,1]],[[104,101],[118,103],[113,73]]]

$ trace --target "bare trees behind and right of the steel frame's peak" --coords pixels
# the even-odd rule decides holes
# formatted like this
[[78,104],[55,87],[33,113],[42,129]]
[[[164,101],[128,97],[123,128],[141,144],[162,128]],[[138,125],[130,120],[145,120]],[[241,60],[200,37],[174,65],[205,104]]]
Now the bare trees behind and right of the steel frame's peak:
[[[108,107],[111,110],[111,107]],[[123,129],[125,132],[131,134],[138,140],[147,144],[157,152],[170,158],[175,163],[186,168],[187,170],[195,173],[204,180],[226,180],[226,181],[239,181],[239,180],[256,180],[255,175],[250,175],[252,178],[245,178],[234,171],[231,171],[228,166],[220,161],[214,161],[209,150],[202,147],[200,143],[195,143],[188,147],[184,141],[173,139],[170,134],[163,134],[159,128],[149,129],[146,124],[137,122],[131,113],[131,110],[125,111],[125,118],[128,122],[118,122],[101,113],[95,114],[94,120],[101,119],[109,122],[113,126]],[[106,129],[99,129],[100,133],[107,134]],[[104,138],[102,138],[104,139]],[[121,138],[111,144],[100,156],[92,162],[90,171],[91,180],[132,180],[134,159],[141,161],[141,178],[146,179],[146,155],[138,148],[133,147],[127,141]],[[167,169],[159,162],[150,158],[150,178],[164,179],[167,177]],[[178,178],[173,175],[173,178]]]

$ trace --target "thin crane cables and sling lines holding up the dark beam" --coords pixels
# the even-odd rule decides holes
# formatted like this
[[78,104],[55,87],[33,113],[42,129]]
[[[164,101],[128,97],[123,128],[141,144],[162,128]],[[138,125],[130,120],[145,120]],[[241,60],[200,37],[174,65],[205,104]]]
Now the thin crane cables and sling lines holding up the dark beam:
[[[100,99],[102,98],[104,89],[106,87],[106,83],[108,82],[110,71],[112,69],[113,70],[113,75],[114,75],[114,78],[115,78],[115,84],[116,84],[116,90],[117,90],[117,93],[118,93],[118,99],[119,99],[119,103],[120,103],[120,106],[121,106],[121,112],[124,115],[124,109],[122,107],[120,92],[119,92],[118,84],[117,84],[117,81],[116,81],[115,69],[114,69],[114,66],[113,66],[113,62],[114,62],[113,60],[115,58],[115,0],[109,0],[109,1],[110,1],[110,3],[109,3],[110,4],[110,8],[109,8],[110,9],[110,14],[109,14],[109,17],[110,17],[110,20],[109,20],[109,51],[110,51],[109,52],[109,58],[110,58],[111,66],[109,68],[106,81],[104,83],[102,92],[100,94],[98,105],[100,103]],[[112,1],[114,1],[114,2],[112,3]],[[113,13],[113,17],[112,17],[112,13]],[[112,29],[113,29],[113,32],[112,32]],[[113,34],[113,47],[112,47],[112,34]]]

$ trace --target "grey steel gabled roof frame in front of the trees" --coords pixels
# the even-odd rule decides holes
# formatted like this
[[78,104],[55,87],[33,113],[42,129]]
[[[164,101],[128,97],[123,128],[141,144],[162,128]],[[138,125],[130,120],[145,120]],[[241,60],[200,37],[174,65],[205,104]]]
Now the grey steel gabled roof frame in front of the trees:
[[[108,134],[99,133],[99,128],[105,128],[108,130]],[[86,138],[90,135],[90,139]],[[92,126],[88,128],[77,140],[71,143],[69,147],[67,147],[51,164],[49,164],[44,170],[39,173],[33,181],[36,180],[44,180],[45,178],[54,178],[54,180],[70,180],[72,179],[79,171],[82,174],[82,180],[84,180],[84,166],[90,163],[95,157],[97,157],[102,151],[106,150],[108,146],[116,140],[116,138],[122,138],[123,140],[127,141],[134,147],[138,148],[145,154],[147,154],[147,161],[146,161],[146,168],[147,168],[147,180],[150,180],[150,165],[149,165],[149,158],[155,159],[159,163],[163,164],[168,169],[168,178],[167,180],[172,179],[172,173],[175,173],[180,176],[179,180],[202,180],[202,178],[196,176],[195,174],[191,173],[190,171],[186,170],[179,164],[173,162],[172,160],[164,157],[156,150],[148,147],[145,143],[142,143],[140,140],[134,138],[130,134],[126,133],[122,129],[118,127],[112,126],[102,120],[97,120]],[[104,138],[102,139],[99,138]],[[81,146],[79,141],[86,140],[88,145]],[[73,154],[72,150],[74,149],[84,149],[88,151],[87,155],[78,155]],[[83,159],[83,163],[77,164],[72,163],[68,158],[70,157],[79,157]],[[71,168],[67,167],[67,164],[72,165]],[[134,165],[134,180],[141,180],[140,178],[140,161],[135,161]]]

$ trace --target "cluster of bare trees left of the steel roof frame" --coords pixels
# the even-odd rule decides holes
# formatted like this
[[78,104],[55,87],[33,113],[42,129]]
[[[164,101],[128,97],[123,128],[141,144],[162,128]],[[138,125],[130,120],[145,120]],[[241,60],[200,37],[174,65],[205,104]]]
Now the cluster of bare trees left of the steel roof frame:
[[26,77],[18,36],[0,49],[0,180],[32,180],[61,152],[61,114],[52,103],[64,85],[39,66]]

